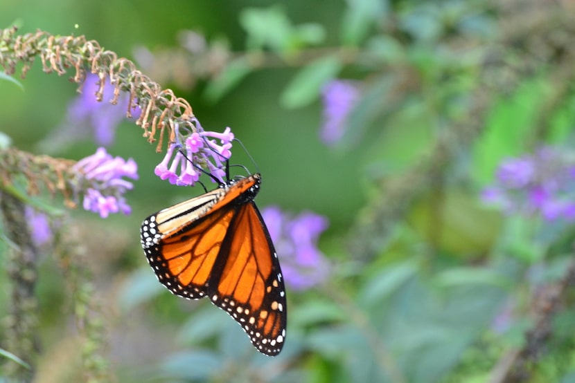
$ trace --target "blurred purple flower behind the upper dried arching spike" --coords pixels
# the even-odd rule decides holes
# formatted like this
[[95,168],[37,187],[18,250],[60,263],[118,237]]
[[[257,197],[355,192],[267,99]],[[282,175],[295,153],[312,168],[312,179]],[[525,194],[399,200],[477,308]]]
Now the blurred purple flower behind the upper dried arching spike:
[[[96,100],[96,91],[99,89],[100,78],[89,73],[84,82],[82,93],[68,106],[66,122],[55,136],[51,137],[51,145],[64,146],[83,138],[90,133],[94,135],[96,143],[109,146],[116,136],[116,128],[126,118],[130,95],[121,93],[117,104],[111,104],[114,95],[114,86],[106,82],[103,89],[103,100]],[[132,109],[132,118],[139,118],[141,110]]]

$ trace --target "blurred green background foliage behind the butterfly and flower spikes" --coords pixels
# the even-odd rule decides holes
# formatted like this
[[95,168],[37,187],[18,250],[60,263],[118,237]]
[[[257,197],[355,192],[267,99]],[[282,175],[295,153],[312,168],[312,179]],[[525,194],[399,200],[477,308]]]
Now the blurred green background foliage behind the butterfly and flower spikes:
[[[17,355],[36,382],[575,382],[573,1],[0,6],[0,28],[85,35],[132,59],[206,130],[231,127],[254,160],[236,145],[232,162],[263,174],[260,208],[329,223],[321,278],[288,284],[284,351],[259,355],[224,312],[155,279],[142,219],[202,191],[154,176],[163,153],[122,120],[106,148],[138,164],[132,214],[34,197],[55,236],[37,264],[39,348]],[[38,155],[94,153],[89,124],[71,123],[71,74],[39,62],[18,74],[0,78],[3,139]],[[326,89],[341,80],[357,95],[334,109]],[[326,141],[334,110],[348,113]],[[88,133],[62,144],[63,129]],[[75,228],[81,257],[57,255],[58,225]],[[93,283],[88,331],[62,259],[84,270],[80,288],[82,276]],[[8,319],[11,286],[2,270]],[[6,331],[0,346],[13,352]]]

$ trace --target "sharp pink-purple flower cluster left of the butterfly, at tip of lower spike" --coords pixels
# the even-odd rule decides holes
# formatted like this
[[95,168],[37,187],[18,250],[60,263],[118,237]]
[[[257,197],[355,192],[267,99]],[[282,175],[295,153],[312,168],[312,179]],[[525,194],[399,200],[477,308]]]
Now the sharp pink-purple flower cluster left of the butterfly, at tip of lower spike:
[[80,175],[78,189],[84,190],[84,209],[106,218],[110,213],[130,214],[123,194],[134,185],[122,177],[138,178],[138,165],[130,158],[112,157],[103,147],[73,167]]

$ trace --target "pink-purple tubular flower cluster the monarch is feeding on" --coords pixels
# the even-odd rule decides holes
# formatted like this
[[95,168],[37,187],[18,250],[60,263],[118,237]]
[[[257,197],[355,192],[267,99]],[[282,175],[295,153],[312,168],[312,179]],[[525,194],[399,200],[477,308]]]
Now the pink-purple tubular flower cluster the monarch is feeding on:
[[197,118],[193,118],[192,122],[195,131],[188,136],[175,129],[176,142],[170,144],[154,173],[172,185],[188,186],[194,185],[200,178],[202,168],[223,182],[226,176],[224,162],[231,157],[231,129],[227,127],[223,133],[204,131]]

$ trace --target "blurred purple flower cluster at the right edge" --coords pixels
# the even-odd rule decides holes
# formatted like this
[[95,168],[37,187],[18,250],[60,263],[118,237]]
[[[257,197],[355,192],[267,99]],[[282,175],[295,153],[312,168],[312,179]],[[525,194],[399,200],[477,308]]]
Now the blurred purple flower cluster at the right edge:
[[504,160],[497,169],[497,183],[484,190],[483,199],[510,214],[574,220],[574,153],[544,147],[531,156]]

